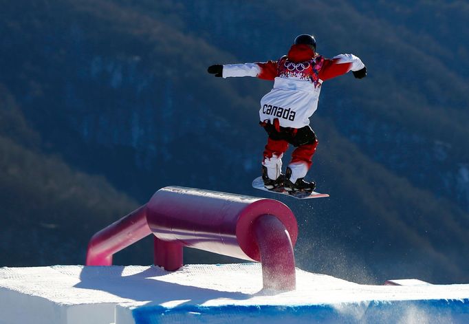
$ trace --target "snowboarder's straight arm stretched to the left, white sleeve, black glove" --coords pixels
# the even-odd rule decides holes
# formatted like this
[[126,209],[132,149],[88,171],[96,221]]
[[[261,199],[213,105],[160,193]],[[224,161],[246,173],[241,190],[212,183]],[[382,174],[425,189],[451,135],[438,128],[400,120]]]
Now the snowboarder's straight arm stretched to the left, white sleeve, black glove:
[[223,78],[254,76],[264,80],[274,80],[277,75],[277,63],[276,61],[268,61],[265,63],[216,64],[208,67],[207,71]]

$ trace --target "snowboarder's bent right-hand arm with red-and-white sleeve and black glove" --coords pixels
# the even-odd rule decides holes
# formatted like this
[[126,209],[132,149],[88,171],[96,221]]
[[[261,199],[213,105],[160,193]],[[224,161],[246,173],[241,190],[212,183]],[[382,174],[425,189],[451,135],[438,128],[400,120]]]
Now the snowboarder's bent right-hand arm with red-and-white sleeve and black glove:
[[340,54],[331,59],[325,59],[323,67],[320,69],[319,78],[328,80],[351,71],[356,78],[367,76],[367,67],[362,60],[353,54]]

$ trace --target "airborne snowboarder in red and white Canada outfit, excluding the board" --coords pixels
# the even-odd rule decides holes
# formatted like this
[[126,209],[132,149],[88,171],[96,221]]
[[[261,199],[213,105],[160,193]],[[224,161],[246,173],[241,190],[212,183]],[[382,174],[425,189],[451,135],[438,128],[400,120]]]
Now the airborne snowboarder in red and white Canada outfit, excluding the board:
[[[349,71],[356,78],[367,76],[367,68],[357,56],[340,54],[329,59],[319,55],[316,39],[309,34],[297,36],[288,54],[278,61],[208,67],[208,73],[223,78],[257,76],[274,80],[274,87],[261,99],[259,110],[260,124],[269,136],[262,161],[265,188],[289,193],[314,191],[316,184],[304,180],[318,145],[309,117],[318,107],[322,83]],[[283,175],[282,157],[288,144],[296,149]]]

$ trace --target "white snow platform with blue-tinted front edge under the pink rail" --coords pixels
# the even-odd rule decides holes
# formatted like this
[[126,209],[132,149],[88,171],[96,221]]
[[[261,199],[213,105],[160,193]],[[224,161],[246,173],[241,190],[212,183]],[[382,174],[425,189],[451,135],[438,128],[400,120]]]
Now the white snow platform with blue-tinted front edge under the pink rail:
[[[261,291],[259,263],[0,268],[0,323],[468,323],[469,285],[358,285],[296,270]],[[415,281],[403,281],[415,283]]]

